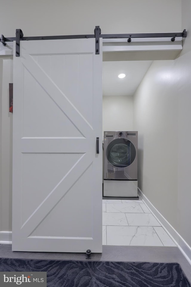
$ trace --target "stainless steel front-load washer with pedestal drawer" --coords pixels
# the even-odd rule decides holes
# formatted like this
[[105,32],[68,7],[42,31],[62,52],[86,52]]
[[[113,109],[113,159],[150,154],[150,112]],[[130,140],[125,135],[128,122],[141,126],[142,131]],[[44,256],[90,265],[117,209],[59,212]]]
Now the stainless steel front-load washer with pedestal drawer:
[[104,132],[104,196],[137,197],[138,132]]

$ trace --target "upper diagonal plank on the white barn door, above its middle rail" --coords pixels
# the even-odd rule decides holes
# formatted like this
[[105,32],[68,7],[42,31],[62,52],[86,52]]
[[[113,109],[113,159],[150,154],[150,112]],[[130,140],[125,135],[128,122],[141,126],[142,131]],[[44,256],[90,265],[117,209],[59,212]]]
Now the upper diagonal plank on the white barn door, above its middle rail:
[[25,54],[22,58],[22,64],[35,78],[38,84],[46,91],[47,95],[53,100],[58,108],[68,117],[73,125],[81,134],[87,138],[93,134],[93,127],[78,111],[78,109],[71,103],[60,88],[53,82],[48,74],[41,68],[33,57]]

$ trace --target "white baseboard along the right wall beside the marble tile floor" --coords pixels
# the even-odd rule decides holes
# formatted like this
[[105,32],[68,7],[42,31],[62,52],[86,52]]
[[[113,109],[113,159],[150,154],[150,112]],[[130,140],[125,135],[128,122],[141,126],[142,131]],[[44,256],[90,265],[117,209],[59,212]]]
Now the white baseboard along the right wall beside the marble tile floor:
[[147,197],[142,193],[142,191],[138,188],[138,195],[159,221],[164,230],[168,233],[170,238],[175,242],[175,244],[180,249],[181,253],[188,260],[191,265],[191,247],[187,244],[187,242],[181,237],[181,235],[170,225],[170,223],[162,216],[162,214],[153,206],[153,204],[147,199]]

